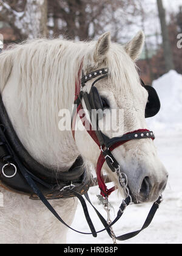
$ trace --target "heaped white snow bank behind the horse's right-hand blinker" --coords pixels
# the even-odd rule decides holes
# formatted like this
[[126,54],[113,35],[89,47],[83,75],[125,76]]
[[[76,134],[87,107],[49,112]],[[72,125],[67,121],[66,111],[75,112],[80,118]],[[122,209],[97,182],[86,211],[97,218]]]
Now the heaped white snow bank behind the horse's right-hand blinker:
[[182,131],[182,75],[171,70],[153,81],[161,101],[161,110],[147,119],[150,129],[158,132]]

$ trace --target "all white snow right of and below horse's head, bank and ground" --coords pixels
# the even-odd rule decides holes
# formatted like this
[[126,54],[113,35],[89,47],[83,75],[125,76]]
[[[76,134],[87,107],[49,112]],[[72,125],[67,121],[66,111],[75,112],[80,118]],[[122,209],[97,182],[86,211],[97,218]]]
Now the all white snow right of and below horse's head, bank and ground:
[[[117,241],[118,244],[181,244],[182,243],[182,76],[176,71],[170,71],[160,79],[153,82],[161,100],[161,111],[157,116],[147,120],[151,130],[155,131],[155,144],[158,155],[169,172],[169,182],[163,193],[164,201],[161,203],[150,226],[139,235],[127,241]],[[110,185],[110,184],[109,184]],[[108,185],[108,187],[110,187]],[[90,199],[105,218],[106,212],[98,205],[97,187],[90,188]],[[122,198],[114,192],[110,196],[112,219],[116,216]],[[114,226],[117,235],[138,230],[143,226],[144,220],[152,204],[130,205],[124,215]],[[88,205],[90,216],[97,230],[103,229],[98,217]],[[72,227],[83,232],[89,232],[84,219],[81,205],[78,205]],[[111,244],[112,240],[107,232],[99,233],[97,238],[92,235],[82,235],[69,230],[67,243],[70,244]]]

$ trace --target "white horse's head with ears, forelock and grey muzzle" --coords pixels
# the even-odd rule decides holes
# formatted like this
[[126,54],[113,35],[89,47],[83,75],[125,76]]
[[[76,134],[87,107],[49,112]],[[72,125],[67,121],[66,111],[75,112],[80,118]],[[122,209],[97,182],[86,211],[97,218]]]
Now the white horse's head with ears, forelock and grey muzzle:
[[[136,34],[124,46],[111,43],[110,34],[106,33],[96,43],[89,45],[84,56],[83,73],[88,81],[84,84],[83,91],[90,93],[94,84],[96,93],[92,91],[93,101],[98,98],[103,108],[103,116],[97,118],[96,130],[99,127],[103,136],[109,139],[147,129],[145,117],[149,92],[141,85],[135,65],[143,44],[143,32]],[[100,79],[96,77],[96,80],[96,73],[93,72],[96,70],[100,70],[100,75],[106,70],[107,76],[99,76]],[[86,74],[89,74],[89,77]],[[84,99],[82,104],[86,107]],[[75,141],[83,157],[96,166],[101,150],[84,127],[75,132]],[[127,176],[133,202],[155,201],[166,187],[167,172],[158,158],[151,137],[144,140],[128,140],[113,149],[112,154],[121,171]],[[123,191],[116,172],[112,172],[106,162],[103,169],[115,182],[116,187]]]

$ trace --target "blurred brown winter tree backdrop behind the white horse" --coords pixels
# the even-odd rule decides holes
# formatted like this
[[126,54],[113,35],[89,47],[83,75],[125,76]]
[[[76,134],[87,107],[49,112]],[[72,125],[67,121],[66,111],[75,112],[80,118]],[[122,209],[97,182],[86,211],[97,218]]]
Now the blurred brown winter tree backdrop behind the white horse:
[[151,83],[169,69],[182,73],[182,51],[177,48],[182,12],[180,9],[178,13],[169,13],[168,9],[165,13],[162,3],[161,0],[0,0],[0,34],[4,35],[6,46],[42,36],[92,40],[110,31],[113,41],[124,44],[143,29],[146,43],[136,65],[143,80]]

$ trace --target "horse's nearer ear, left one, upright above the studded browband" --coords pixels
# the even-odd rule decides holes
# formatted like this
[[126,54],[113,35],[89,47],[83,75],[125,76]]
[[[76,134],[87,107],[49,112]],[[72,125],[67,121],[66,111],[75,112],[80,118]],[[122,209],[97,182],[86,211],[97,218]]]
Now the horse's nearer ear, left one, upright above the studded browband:
[[110,47],[110,32],[106,32],[98,39],[95,51],[93,55],[93,59],[95,62],[103,62],[106,58],[107,52],[109,51]]

